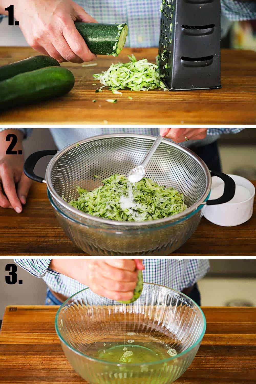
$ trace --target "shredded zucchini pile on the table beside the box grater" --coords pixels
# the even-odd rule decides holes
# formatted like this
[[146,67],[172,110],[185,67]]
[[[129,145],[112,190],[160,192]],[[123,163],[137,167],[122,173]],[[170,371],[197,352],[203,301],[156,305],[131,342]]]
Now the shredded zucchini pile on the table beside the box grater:
[[110,90],[129,88],[131,91],[148,91],[149,89],[165,88],[160,79],[158,66],[149,63],[147,59],[137,61],[135,56],[129,56],[129,63],[112,64],[107,71],[94,74],[103,86]]

